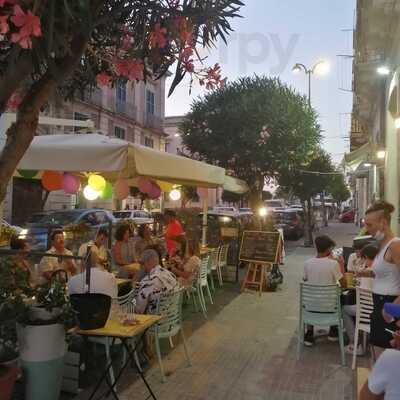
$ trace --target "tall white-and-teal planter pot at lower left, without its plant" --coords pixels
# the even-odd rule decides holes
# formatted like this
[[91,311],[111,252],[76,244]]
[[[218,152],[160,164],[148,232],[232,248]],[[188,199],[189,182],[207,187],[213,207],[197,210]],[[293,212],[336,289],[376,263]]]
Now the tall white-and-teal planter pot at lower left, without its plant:
[[58,399],[66,349],[64,326],[17,324],[17,334],[25,399]]

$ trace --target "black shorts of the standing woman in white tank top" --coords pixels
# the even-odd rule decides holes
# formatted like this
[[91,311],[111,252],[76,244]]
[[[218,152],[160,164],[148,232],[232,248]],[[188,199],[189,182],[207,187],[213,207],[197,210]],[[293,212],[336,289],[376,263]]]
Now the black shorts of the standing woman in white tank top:
[[374,310],[371,313],[371,334],[370,343],[377,347],[382,347],[384,349],[390,349],[390,341],[393,340],[391,333],[386,332],[385,329],[390,329],[395,331],[396,324],[391,322],[386,323],[383,319],[382,310],[385,303],[393,303],[398,296],[383,296],[380,294],[372,293],[372,298],[374,300]]

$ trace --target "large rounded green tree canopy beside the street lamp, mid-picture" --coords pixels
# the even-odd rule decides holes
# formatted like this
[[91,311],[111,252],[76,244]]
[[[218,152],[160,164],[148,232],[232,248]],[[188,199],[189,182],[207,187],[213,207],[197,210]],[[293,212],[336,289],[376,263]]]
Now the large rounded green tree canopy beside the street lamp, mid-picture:
[[191,154],[247,181],[264,183],[313,154],[320,140],[306,99],[266,76],[240,78],[195,100],[181,126]]

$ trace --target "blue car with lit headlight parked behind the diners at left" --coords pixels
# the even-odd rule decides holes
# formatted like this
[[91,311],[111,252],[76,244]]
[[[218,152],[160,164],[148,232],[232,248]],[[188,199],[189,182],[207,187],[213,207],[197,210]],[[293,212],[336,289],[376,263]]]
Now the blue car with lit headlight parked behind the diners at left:
[[[28,224],[26,230],[19,235],[29,243],[32,250],[47,250],[50,247],[49,234],[54,229],[64,229],[71,224],[85,223],[89,226],[89,235],[94,237],[99,228],[109,228],[115,224],[115,218],[108,210],[86,208],[76,210],[54,211],[44,216],[39,222]],[[71,242],[66,236],[66,247]]]

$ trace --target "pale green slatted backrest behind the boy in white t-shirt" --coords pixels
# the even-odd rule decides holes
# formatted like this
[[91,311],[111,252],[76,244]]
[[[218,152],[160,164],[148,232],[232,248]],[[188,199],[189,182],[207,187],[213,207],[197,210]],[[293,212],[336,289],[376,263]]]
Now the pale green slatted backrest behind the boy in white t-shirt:
[[303,311],[340,315],[339,286],[300,283],[300,307]]

